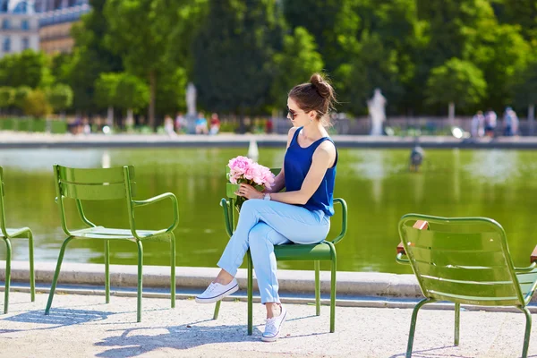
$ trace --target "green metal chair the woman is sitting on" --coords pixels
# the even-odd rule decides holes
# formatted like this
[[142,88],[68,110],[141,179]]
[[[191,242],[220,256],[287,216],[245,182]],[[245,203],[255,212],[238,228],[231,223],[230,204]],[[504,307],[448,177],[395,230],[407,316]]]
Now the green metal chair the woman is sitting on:
[[[275,175],[279,173],[281,169],[270,169]],[[226,233],[229,237],[234,233],[235,220],[234,220],[234,200],[238,185],[227,183],[226,186],[226,199],[220,201],[220,205],[224,210],[224,222],[226,224]],[[339,243],[346,234],[347,229],[347,205],[345,200],[337,198],[334,199],[335,204],[340,204],[342,207],[342,226],[341,232],[332,240],[325,240],[322,243],[317,244],[285,244],[277,245],[274,247],[277,260],[295,260],[314,261],[315,267],[315,307],[316,314],[320,316],[320,260],[331,261],[331,280],[330,280],[330,333],[333,333],[336,329],[336,271],[337,271],[337,256],[335,244]],[[252,317],[252,291],[253,291],[253,263],[251,261],[250,250],[247,252],[248,257],[248,335],[251,336],[253,332],[253,317]],[[220,303],[218,301],[215,306],[213,319],[217,320],[218,311],[220,310]]]

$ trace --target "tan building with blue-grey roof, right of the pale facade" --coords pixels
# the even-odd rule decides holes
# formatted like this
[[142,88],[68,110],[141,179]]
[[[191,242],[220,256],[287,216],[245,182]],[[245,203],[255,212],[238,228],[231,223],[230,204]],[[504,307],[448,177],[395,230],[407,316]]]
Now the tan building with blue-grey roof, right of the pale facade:
[[35,0],[39,21],[39,47],[47,54],[70,53],[72,25],[90,12],[89,0]]

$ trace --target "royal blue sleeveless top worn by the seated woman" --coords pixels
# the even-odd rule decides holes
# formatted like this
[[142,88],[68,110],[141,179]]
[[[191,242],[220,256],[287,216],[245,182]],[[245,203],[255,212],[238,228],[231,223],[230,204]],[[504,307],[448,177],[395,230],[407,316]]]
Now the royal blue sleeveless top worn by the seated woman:
[[[332,141],[328,137],[322,137],[318,141],[314,141],[307,148],[303,148],[298,144],[298,133],[303,127],[298,128],[293,135],[293,140],[289,144],[284,160],[284,171],[286,173],[286,192],[299,191],[303,181],[308,174],[311,166],[311,159],[315,149],[320,146],[323,141]],[[303,207],[309,210],[322,210],[326,216],[334,215],[334,180],[336,179],[337,151],[334,166],[327,169],[327,173],[322,178],[319,188],[313,193],[310,200]]]

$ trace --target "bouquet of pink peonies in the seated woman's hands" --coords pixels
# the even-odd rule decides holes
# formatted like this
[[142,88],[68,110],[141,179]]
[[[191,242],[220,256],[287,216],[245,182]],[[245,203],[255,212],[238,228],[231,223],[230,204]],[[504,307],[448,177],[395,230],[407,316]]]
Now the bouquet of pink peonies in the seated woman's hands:
[[[229,183],[241,184],[247,183],[262,192],[265,189],[270,190],[274,183],[274,174],[267,166],[260,164],[246,157],[236,157],[229,161]],[[246,198],[237,197],[236,205],[241,209]]]

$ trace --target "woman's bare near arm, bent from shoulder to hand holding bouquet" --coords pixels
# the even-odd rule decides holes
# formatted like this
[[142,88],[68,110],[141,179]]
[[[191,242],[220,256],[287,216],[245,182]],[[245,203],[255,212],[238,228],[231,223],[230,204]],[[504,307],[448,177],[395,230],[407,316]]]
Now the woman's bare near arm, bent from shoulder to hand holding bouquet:
[[[300,190],[295,192],[272,192],[270,193],[270,200],[285,202],[287,204],[305,204],[310,200],[313,193],[317,191],[322,178],[328,168],[334,166],[335,161],[336,147],[334,147],[334,144],[330,141],[322,142],[319,148],[313,153],[310,170]],[[263,199],[264,197],[262,192],[258,192],[248,184],[241,184],[237,195],[248,199]]]

